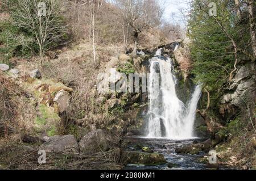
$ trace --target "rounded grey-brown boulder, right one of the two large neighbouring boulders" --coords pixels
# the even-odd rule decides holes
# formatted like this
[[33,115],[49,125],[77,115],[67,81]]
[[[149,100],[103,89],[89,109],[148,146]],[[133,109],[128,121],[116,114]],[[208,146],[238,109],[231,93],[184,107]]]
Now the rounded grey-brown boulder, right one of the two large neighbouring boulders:
[[97,129],[89,132],[79,142],[80,150],[83,153],[91,154],[99,151],[108,151],[114,146],[118,145],[120,138],[112,134]]

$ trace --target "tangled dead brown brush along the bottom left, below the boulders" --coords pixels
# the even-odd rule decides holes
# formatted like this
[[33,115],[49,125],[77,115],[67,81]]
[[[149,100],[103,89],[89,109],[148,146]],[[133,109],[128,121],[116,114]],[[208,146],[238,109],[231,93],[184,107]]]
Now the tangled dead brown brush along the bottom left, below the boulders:
[[38,163],[38,150],[40,150],[40,146],[37,145],[26,146],[10,140],[2,141],[0,142],[0,169],[122,169],[119,164],[121,155],[119,148],[90,155],[67,154],[62,151],[47,153],[46,164]]

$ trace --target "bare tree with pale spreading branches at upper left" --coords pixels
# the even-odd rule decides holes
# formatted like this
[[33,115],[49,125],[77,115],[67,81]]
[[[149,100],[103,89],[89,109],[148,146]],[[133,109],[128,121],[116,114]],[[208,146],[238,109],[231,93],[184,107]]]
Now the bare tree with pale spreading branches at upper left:
[[45,52],[63,44],[63,36],[67,33],[61,18],[60,2],[18,0],[18,7],[13,13],[16,26],[30,31],[35,36],[42,65]]

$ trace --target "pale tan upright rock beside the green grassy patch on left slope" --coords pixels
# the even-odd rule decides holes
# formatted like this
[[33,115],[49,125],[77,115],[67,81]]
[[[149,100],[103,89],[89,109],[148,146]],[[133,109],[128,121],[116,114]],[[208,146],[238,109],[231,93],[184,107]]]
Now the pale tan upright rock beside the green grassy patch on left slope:
[[67,91],[61,90],[61,91],[57,92],[53,101],[58,104],[59,112],[63,113],[64,111],[68,110],[69,93]]

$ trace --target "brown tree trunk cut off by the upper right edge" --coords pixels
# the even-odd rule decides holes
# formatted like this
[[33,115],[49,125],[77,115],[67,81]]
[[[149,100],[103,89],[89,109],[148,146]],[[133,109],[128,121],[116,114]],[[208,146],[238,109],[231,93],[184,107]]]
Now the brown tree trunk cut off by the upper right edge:
[[254,1],[249,0],[248,10],[249,10],[249,19],[250,19],[250,32],[251,32],[251,47],[253,48],[254,57],[256,57],[256,40],[255,40],[255,15],[254,15]]

